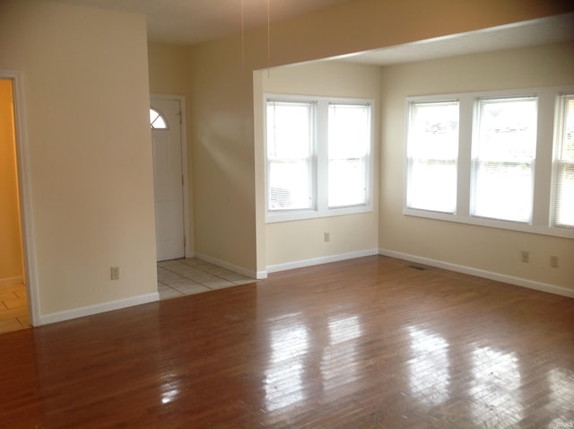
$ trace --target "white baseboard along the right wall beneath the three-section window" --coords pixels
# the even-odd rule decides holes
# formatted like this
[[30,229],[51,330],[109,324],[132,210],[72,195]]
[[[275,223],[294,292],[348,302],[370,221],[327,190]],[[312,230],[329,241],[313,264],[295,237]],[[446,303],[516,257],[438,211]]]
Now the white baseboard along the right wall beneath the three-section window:
[[379,249],[378,253],[383,256],[388,256],[391,258],[404,259],[411,262],[416,262],[423,265],[429,265],[431,267],[439,267],[448,269],[450,271],[456,271],[457,273],[468,274],[470,276],[477,276],[488,278],[489,280],[495,280],[497,282],[508,283],[509,285],[517,285],[526,287],[528,289],[535,289],[536,291],[554,293],[556,295],[567,296],[569,298],[574,298],[574,290],[568,289],[566,287],[548,285],[542,282],[535,282],[534,280],[528,280],[526,278],[507,276],[505,274],[494,273],[491,271],[486,271],[474,267],[465,267],[457,264],[451,264],[449,262],[443,262],[436,259],[422,258],[415,255],[410,255],[408,253],[397,252],[394,250]]

